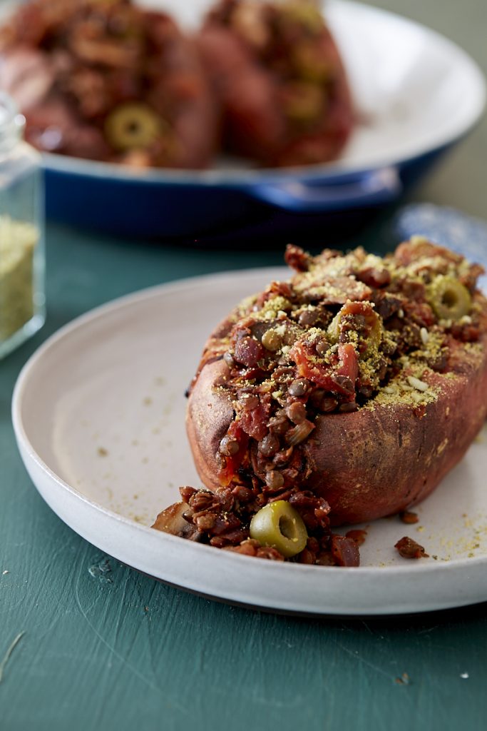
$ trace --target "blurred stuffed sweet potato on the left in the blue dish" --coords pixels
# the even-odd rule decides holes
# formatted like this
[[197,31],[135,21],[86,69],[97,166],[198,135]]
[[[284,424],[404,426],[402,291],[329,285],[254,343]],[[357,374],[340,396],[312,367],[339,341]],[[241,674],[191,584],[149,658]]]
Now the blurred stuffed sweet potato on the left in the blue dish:
[[41,151],[207,167],[218,109],[193,41],[131,0],[28,0],[0,27],[0,86]]

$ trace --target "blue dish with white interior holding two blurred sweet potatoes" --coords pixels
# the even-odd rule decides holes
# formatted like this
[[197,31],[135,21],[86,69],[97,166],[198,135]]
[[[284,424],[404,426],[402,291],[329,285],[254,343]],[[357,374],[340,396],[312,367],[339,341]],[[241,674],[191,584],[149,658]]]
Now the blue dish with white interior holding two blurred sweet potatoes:
[[[207,4],[162,5],[188,25]],[[292,170],[224,161],[211,170],[178,171],[46,154],[47,215],[116,235],[174,238],[269,213],[340,216],[396,200],[478,121],[483,74],[448,39],[389,12],[331,0],[326,18],[357,117],[339,160]]]

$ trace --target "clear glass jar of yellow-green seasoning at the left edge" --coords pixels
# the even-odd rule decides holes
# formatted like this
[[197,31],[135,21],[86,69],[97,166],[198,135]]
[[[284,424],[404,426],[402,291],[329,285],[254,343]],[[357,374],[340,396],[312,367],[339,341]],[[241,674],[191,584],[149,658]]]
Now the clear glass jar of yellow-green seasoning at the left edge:
[[0,92],[0,357],[45,321],[41,158],[25,119]]

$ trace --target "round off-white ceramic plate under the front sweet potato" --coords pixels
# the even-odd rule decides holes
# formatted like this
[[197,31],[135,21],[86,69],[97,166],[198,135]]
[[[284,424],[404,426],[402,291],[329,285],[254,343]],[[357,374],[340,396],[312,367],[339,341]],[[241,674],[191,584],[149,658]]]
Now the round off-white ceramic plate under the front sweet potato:
[[[487,444],[484,436],[417,512],[367,527],[356,569],[280,564],[150,529],[199,485],[185,438],[184,391],[205,336],[234,303],[287,270],[176,282],[103,306],[67,325],[31,357],[13,398],[23,461],[69,526],[161,580],[230,602],[297,613],[374,615],[487,600]],[[486,435],[487,436],[487,435]],[[418,539],[430,558],[394,543]]]

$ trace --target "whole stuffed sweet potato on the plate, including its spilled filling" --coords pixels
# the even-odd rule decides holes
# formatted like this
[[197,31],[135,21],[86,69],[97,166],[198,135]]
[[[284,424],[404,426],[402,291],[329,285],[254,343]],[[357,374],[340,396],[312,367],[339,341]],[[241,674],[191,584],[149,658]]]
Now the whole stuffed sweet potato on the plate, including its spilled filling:
[[[239,303],[207,340],[187,410],[204,488],[180,488],[153,527],[358,566],[366,531],[337,526],[414,522],[410,508],[486,418],[483,268],[422,236],[383,258],[288,246],[285,260],[294,276]],[[396,548],[427,556],[408,537]]]

